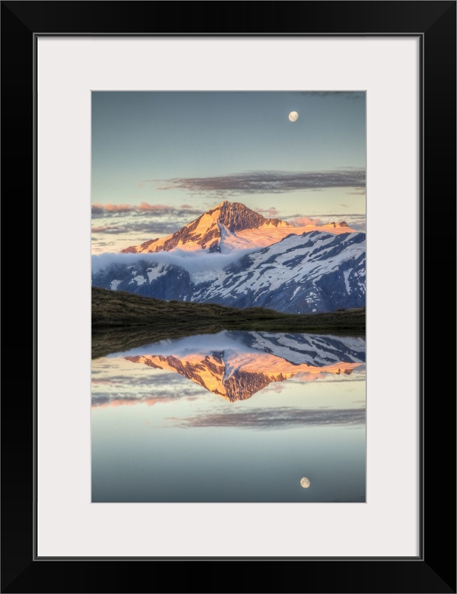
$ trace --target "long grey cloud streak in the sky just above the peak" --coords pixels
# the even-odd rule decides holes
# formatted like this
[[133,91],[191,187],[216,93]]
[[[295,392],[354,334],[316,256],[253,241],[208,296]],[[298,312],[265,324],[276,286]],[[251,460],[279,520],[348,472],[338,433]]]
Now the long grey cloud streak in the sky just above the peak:
[[334,171],[246,171],[219,177],[172,178],[164,180],[161,190],[179,188],[220,195],[284,193],[321,188],[354,188],[365,186],[365,169],[347,168]]

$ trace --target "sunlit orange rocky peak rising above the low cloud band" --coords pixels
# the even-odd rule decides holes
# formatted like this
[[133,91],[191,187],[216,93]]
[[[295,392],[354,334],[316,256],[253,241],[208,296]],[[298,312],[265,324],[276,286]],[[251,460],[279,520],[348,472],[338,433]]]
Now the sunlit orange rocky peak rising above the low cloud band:
[[151,253],[171,251],[229,252],[239,248],[261,248],[276,243],[289,233],[305,231],[347,233],[353,231],[345,221],[296,227],[278,218],[265,218],[239,202],[224,200],[218,206],[196,218],[176,233],[164,238],[151,239],[140,246],[130,246],[122,253]]

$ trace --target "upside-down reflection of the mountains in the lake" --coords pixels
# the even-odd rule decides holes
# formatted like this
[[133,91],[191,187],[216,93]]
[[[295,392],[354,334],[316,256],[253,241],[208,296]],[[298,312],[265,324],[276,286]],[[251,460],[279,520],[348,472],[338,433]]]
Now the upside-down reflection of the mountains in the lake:
[[[166,354],[156,354],[161,348]],[[151,346],[153,354],[126,361],[175,371],[235,402],[298,373],[303,381],[325,373],[351,375],[365,361],[365,348],[362,338],[235,331],[158,343]]]

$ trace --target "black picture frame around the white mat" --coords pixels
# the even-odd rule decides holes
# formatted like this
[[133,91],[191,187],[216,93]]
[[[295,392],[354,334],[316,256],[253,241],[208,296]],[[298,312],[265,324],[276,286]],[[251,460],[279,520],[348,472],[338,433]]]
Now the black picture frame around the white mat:
[[[422,521],[418,558],[35,556],[34,50],[39,34],[420,36]],[[5,241],[4,270],[9,269],[9,256],[16,263],[24,258],[30,275],[19,288],[4,283],[2,291],[7,321],[18,322],[13,331],[5,331],[6,353],[11,356],[4,356],[8,366],[1,398],[1,592],[456,593],[456,391],[448,387],[449,376],[455,386],[455,373],[452,367],[449,376],[446,367],[436,371],[439,361],[443,362],[443,335],[449,333],[451,341],[455,337],[455,325],[449,326],[455,321],[456,1],[1,1],[1,49],[1,206],[5,227],[21,233],[19,249],[13,240]],[[451,224],[444,226],[443,220]],[[454,265],[447,281],[434,268],[434,263],[443,261],[446,267]],[[443,286],[438,296],[437,281]],[[27,306],[19,307],[24,297]],[[448,361],[444,363],[448,366]],[[26,371],[30,381],[24,379]]]

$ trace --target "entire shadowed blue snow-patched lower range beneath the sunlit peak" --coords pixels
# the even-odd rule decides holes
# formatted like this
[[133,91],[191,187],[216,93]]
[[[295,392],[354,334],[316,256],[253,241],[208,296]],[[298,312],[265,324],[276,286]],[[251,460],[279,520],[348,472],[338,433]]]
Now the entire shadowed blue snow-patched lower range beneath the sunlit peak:
[[[254,213],[255,214],[255,213]],[[290,229],[290,227],[288,227]],[[213,259],[214,258],[214,259]],[[92,274],[92,285],[162,300],[321,313],[365,307],[365,233],[288,234],[221,267],[214,254],[201,267],[154,261],[115,263]]]

